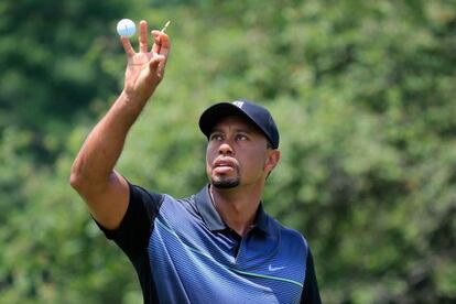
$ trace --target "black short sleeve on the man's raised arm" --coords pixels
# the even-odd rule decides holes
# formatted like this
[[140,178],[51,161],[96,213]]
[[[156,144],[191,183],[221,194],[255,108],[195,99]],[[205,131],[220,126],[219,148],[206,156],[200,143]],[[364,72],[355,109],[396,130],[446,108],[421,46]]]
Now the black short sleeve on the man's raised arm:
[[108,230],[98,225],[108,239],[113,240],[131,261],[140,256],[149,243],[153,221],[163,202],[163,195],[129,183],[130,200],[119,228]]

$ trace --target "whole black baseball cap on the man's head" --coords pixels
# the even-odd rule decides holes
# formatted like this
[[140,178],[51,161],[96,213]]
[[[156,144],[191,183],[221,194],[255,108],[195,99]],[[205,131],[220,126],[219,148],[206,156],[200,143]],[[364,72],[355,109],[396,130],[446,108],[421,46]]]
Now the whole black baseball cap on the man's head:
[[199,118],[199,129],[209,138],[217,122],[227,116],[246,118],[264,133],[273,149],[279,148],[279,130],[269,110],[246,99],[232,102],[218,102],[210,106]]

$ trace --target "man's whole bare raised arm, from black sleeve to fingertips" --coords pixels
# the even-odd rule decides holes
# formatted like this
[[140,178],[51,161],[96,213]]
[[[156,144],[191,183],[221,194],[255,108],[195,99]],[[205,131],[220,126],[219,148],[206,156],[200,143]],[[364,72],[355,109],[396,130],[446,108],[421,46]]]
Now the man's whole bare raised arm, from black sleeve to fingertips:
[[87,203],[99,224],[116,229],[128,203],[127,181],[115,171],[130,127],[163,79],[170,39],[152,31],[153,45],[149,51],[148,23],[140,22],[139,52],[128,37],[121,37],[128,63],[123,90],[105,117],[87,137],[76,156],[70,175],[72,186]]

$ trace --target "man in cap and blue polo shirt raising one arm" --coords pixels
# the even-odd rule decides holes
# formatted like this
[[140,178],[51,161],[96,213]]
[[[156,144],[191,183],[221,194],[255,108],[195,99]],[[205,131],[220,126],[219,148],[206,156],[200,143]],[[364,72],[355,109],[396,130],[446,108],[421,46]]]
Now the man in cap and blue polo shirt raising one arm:
[[141,21],[139,53],[121,37],[124,88],[88,135],[70,176],[97,224],[133,263],[144,303],[321,303],[306,240],[260,203],[280,160],[279,131],[265,108],[238,100],[202,115],[209,185],[192,197],[146,191],[113,170],[163,78],[170,39],[159,31],[152,36],[149,52]]

